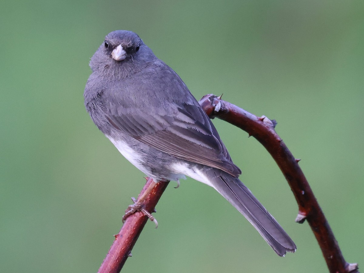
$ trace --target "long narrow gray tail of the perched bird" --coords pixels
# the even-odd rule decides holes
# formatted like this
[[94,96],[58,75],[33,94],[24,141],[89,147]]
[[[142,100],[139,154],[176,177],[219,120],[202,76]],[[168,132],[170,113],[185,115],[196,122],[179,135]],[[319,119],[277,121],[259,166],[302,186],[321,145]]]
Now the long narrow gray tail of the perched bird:
[[292,239],[238,178],[212,167],[204,173],[211,185],[248,219],[279,256],[296,251]]

